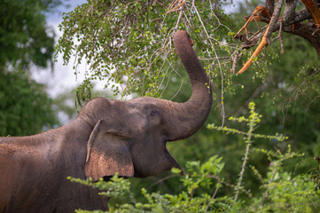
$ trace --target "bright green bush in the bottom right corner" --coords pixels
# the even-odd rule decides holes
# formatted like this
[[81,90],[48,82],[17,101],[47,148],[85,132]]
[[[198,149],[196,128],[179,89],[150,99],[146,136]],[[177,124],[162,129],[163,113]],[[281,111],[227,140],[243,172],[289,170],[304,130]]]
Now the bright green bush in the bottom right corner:
[[319,212],[320,192],[316,189],[316,182],[308,175],[293,177],[283,170],[283,162],[299,157],[303,154],[292,152],[287,147],[285,154],[279,150],[267,151],[254,149],[255,152],[266,154],[269,159],[269,172],[261,177],[258,170],[251,167],[256,177],[261,181],[261,193],[250,202],[237,201],[230,212],[246,209],[246,212]]

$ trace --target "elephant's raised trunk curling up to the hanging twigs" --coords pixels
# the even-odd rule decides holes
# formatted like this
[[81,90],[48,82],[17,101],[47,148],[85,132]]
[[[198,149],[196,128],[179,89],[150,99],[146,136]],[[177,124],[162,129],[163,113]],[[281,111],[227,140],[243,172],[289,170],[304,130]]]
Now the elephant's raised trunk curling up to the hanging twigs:
[[[192,49],[191,38],[185,31],[177,31],[174,36],[176,53],[183,62],[190,81],[191,98],[185,103],[170,103],[175,118],[175,128],[169,140],[188,138],[207,120],[212,105],[212,90],[207,73]],[[176,122],[178,121],[178,122]]]

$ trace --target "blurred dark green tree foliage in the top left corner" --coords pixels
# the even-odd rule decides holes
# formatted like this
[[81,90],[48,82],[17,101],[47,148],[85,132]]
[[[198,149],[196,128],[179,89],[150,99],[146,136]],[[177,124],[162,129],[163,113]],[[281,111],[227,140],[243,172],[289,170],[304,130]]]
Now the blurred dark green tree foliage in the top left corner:
[[47,67],[54,51],[54,32],[45,15],[59,0],[4,0],[0,3],[0,67]]

